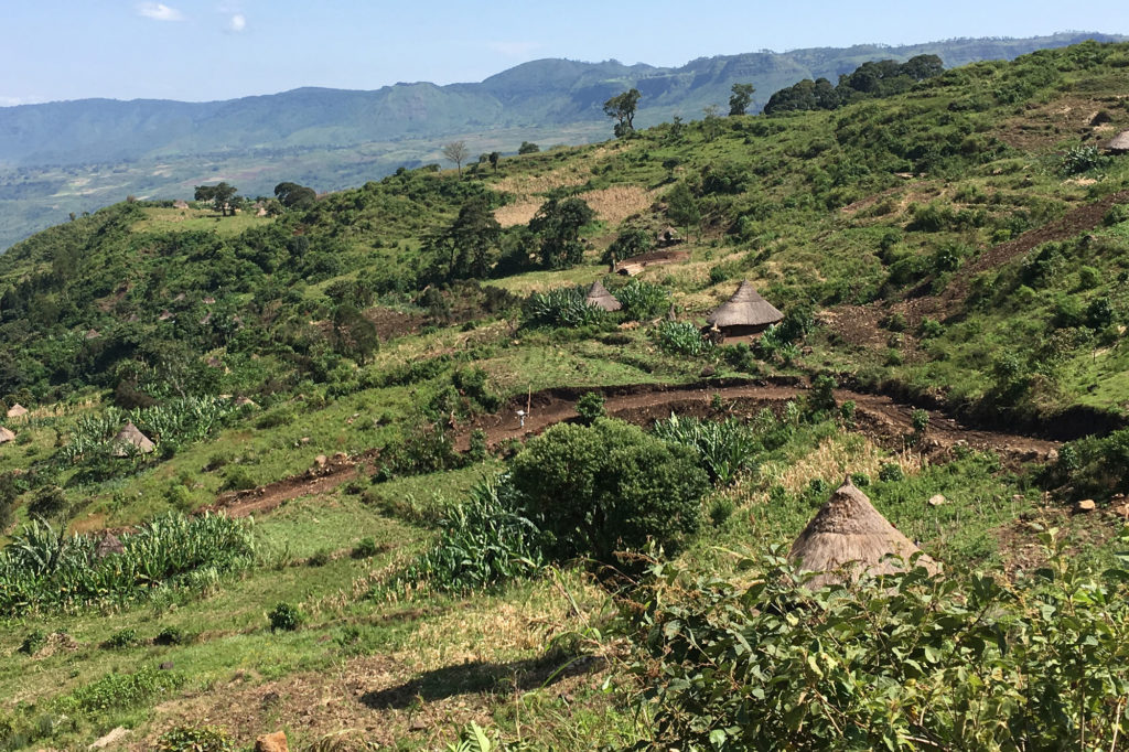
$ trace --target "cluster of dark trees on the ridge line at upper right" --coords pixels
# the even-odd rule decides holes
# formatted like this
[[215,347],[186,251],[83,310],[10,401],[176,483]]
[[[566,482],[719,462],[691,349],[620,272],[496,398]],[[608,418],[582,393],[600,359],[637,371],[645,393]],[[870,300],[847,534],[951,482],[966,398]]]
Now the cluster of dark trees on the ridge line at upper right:
[[866,97],[887,97],[905,91],[918,81],[945,71],[937,55],[917,55],[904,63],[893,60],[865,62],[832,86],[825,78],[809,78],[780,89],[764,105],[768,115],[797,110],[835,110]]

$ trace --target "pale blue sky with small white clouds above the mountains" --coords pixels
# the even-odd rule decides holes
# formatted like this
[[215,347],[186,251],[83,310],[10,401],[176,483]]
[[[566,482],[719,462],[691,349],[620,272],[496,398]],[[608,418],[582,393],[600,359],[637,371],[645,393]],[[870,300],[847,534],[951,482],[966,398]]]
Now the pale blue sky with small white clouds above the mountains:
[[204,102],[303,86],[481,81],[541,58],[681,65],[719,54],[1084,29],[1129,0],[3,0],[0,105]]

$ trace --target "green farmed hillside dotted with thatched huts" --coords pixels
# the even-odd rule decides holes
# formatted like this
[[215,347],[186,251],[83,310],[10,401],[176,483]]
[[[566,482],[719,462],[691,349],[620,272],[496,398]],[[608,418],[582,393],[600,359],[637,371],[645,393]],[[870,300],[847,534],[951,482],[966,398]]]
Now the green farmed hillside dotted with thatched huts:
[[[1127,70],[1086,42],[16,244],[0,750],[1110,746]],[[742,280],[782,320],[703,339]],[[844,476],[944,572],[797,588]]]

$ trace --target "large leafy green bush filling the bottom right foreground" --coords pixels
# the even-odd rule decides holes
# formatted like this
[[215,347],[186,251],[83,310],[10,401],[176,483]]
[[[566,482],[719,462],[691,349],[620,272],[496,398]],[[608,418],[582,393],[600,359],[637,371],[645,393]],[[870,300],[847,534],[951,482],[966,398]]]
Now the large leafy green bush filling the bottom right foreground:
[[1124,735],[1129,553],[1103,572],[1057,546],[1014,586],[914,569],[815,593],[780,553],[747,588],[659,565],[624,604],[655,746],[1112,749]]

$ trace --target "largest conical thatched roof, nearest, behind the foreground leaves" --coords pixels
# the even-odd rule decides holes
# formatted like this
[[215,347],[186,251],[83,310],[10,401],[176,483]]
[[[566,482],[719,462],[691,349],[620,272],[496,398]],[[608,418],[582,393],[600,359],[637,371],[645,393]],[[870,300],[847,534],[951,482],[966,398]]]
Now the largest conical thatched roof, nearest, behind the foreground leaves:
[[[894,554],[908,562],[919,551],[848,479],[807,523],[791,544],[788,558],[798,562],[804,571],[820,572],[809,582],[809,587],[822,587],[857,579],[864,572],[889,575],[900,571],[903,567],[898,560],[886,557]],[[939,569],[926,556],[917,563],[930,572]]]

